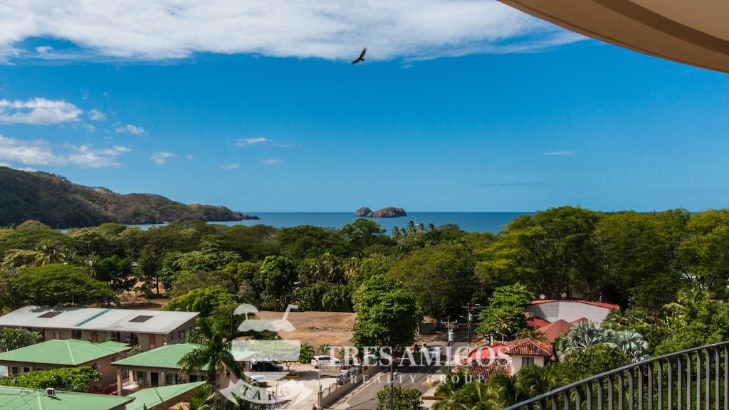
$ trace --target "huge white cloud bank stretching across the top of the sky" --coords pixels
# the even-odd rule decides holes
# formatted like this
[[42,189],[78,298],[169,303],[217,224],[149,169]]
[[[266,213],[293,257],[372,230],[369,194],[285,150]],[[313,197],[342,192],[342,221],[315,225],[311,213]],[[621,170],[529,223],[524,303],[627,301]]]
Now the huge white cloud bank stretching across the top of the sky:
[[24,39],[80,45],[36,58],[184,58],[254,53],[350,60],[534,50],[582,39],[495,0],[22,1],[0,14],[0,56]]

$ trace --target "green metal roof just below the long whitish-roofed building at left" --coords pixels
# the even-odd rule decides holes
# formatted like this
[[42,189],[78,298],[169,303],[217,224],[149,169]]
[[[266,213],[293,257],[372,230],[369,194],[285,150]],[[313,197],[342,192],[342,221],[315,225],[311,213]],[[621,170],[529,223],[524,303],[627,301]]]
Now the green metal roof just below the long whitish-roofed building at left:
[[86,340],[49,340],[20,349],[0,353],[0,362],[44,363],[53,365],[80,365],[131,349],[118,341],[93,343]]

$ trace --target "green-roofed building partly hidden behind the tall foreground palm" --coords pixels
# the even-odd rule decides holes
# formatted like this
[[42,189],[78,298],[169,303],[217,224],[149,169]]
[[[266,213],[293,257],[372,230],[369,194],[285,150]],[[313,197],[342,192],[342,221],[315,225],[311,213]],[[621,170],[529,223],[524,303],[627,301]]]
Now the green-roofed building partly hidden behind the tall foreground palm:
[[[198,371],[190,371],[182,376],[179,361],[184,355],[200,347],[199,344],[168,344],[148,352],[139,353],[112,365],[117,366],[117,392],[133,392],[141,387],[158,387],[205,380],[206,366]],[[235,359],[243,366],[250,368],[249,360],[254,352],[235,352]]]

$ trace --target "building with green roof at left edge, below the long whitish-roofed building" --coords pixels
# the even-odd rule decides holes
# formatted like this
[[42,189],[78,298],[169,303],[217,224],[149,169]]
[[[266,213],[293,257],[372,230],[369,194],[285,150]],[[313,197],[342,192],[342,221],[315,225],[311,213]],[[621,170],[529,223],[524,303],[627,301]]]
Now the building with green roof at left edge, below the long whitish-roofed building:
[[118,341],[93,343],[77,339],[54,339],[0,353],[0,365],[7,366],[7,375],[10,377],[34,370],[89,366],[101,373],[101,381],[89,387],[101,391],[109,384],[114,384],[116,368],[112,362],[125,357],[129,349],[131,347],[128,344]]

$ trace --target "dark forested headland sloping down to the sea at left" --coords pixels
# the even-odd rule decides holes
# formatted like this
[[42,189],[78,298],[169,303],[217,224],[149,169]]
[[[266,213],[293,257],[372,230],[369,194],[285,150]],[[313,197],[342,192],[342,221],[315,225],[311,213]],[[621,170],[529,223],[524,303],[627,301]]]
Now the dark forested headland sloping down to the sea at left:
[[45,172],[0,166],[0,226],[39,220],[61,228],[106,222],[163,223],[180,220],[241,220],[245,215],[225,206],[171,201],[159,195],[120,195],[100,187],[85,187]]

